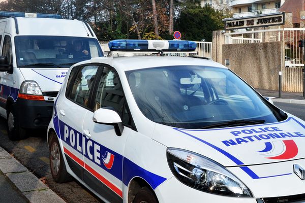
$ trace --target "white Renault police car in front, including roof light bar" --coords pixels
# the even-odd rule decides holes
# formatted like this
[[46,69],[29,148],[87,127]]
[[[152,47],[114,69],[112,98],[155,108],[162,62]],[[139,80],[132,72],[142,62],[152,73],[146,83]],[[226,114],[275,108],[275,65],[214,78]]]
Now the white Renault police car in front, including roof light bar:
[[72,66],[48,127],[53,179],[105,202],[303,202],[305,122],[190,41],[109,43]]

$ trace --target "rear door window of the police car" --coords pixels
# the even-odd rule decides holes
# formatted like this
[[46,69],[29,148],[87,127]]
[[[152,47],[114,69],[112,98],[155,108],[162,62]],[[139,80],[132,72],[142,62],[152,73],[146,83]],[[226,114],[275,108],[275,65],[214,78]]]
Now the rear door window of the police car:
[[71,79],[72,81],[68,82],[71,86],[67,97],[81,106],[88,107],[89,94],[90,90],[93,88],[93,82],[98,67],[98,65],[80,67],[76,77],[72,76],[69,78],[69,80]]

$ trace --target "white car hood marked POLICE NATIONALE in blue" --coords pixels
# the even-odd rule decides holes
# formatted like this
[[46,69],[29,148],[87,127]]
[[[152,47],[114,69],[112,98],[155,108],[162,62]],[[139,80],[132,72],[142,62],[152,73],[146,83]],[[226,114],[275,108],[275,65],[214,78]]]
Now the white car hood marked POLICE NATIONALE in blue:
[[153,140],[196,152],[226,167],[305,158],[305,122],[292,115],[277,123],[214,129],[157,124]]

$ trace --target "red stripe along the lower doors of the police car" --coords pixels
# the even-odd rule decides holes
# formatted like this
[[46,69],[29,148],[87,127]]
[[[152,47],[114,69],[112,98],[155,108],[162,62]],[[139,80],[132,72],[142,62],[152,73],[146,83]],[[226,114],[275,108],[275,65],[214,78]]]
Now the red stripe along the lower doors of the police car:
[[115,192],[118,196],[123,198],[123,192],[113,185],[111,182],[109,182],[106,178],[104,178],[102,175],[100,175],[98,172],[96,172],[92,167],[85,164],[82,160],[80,160],[77,156],[72,154],[67,148],[64,147],[64,152],[70,156],[73,160],[75,160],[78,164],[83,166],[88,172],[90,172],[92,175],[94,175],[97,179],[99,179],[102,183],[104,183],[107,187],[109,187],[113,192]]

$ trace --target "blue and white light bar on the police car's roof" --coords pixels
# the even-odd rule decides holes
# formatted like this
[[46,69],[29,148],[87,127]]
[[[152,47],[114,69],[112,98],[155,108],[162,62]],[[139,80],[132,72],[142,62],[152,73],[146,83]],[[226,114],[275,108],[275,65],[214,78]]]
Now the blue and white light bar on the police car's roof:
[[195,51],[196,43],[175,40],[113,40],[110,51]]

